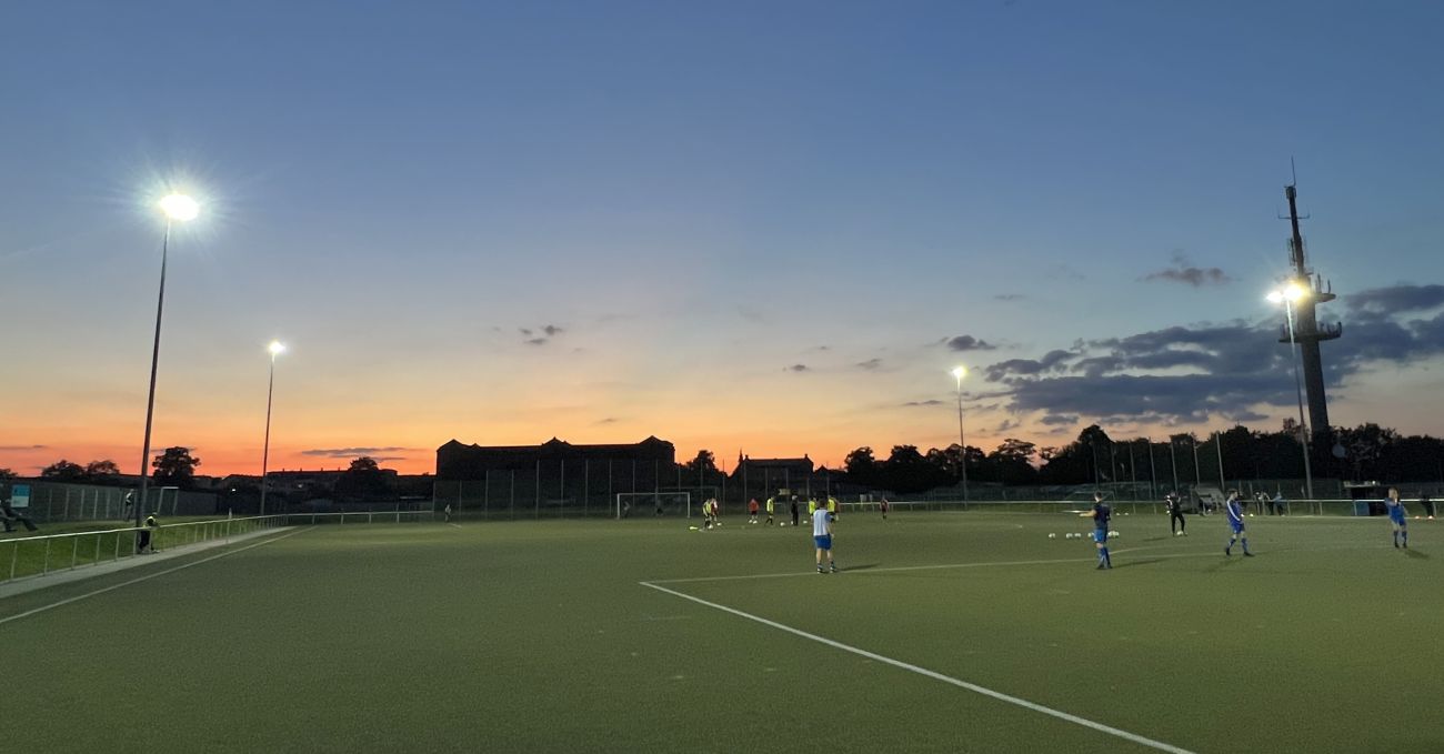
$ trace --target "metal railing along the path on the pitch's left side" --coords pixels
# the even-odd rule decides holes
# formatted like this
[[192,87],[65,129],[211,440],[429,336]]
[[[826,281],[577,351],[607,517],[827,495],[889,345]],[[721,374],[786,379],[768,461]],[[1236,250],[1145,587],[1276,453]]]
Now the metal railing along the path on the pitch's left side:
[[[391,510],[361,513],[283,513],[208,519],[162,524],[152,530],[150,547],[162,550],[202,542],[225,540],[263,529],[345,523],[429,521],[430,510]],[[139,533],[144,527],[98,529],[32,537],[0,539],[0,584],[19,578],[43,576],[53,571],[74,571],[118,562],[137,555]],[[9,550],[9,552],[7,552]]]

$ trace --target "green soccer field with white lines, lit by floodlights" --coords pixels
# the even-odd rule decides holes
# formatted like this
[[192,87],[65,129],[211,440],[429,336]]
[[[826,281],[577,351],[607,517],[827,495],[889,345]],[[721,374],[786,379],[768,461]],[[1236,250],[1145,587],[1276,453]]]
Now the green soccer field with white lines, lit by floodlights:
[[1444,750],[1444,527],[1087,526],[280,530],[0,601],[0,750]]

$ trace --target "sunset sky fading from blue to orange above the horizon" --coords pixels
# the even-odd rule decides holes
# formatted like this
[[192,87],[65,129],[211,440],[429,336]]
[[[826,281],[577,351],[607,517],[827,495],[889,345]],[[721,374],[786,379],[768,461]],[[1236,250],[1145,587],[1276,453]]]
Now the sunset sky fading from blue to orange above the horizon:
[[1444,433],[1444,6],[0,4],[0,467]]

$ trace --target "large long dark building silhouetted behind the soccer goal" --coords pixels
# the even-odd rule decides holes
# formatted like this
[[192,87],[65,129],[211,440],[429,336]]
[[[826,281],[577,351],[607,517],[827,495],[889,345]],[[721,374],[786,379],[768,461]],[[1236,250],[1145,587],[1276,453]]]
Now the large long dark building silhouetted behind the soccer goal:
[[[648,477],[674,471],[677,449],[670,442],[647,438],[632,445],[573,445],[552,438],[542,445],[462,445],[452,439],[436,449],[436,480],[479,481],[488,472],[534,472],[539,477],[576,475],[583,468],[628,467]],[[650,487],[650,484],[648,484]]]

